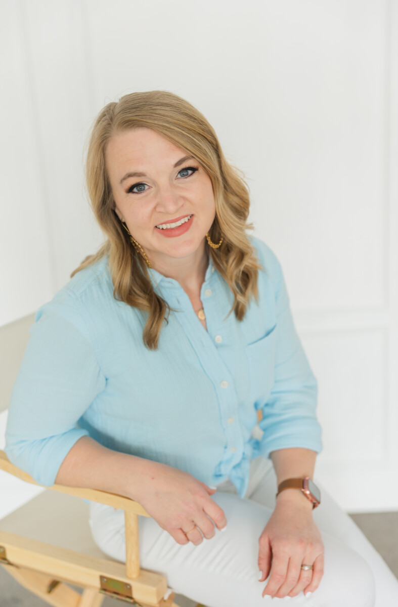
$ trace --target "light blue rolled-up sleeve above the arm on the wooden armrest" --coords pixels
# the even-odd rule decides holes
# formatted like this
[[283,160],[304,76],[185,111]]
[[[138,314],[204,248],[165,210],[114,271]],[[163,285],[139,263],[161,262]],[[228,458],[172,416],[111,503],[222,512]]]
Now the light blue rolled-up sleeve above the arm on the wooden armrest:
[[8,408],[5,453],[36,483],[55,483],[76,441],[78,419],[106,384],[72,296],[39,308]]

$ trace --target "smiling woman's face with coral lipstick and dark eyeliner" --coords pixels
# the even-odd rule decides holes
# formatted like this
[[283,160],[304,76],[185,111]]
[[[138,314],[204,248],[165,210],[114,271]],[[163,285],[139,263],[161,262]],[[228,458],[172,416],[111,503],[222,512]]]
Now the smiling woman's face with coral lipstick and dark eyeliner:
[[[211,178],[187,156],[145,127],[113,135],[106,147],[115,212],[155,268],[177,267],[183,257],[198,261],[214,222]],[[181,226],[164,228],[191,215]]]

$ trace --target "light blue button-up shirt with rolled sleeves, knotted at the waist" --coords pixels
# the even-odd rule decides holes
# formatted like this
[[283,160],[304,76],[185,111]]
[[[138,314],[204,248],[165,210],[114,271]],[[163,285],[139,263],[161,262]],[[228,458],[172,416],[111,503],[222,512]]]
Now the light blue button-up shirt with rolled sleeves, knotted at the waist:
[[268,245],[249,239],[265,271],[258,304],[251,300],[241,322],[229,314],[234,297],[211,258],[200,291],[207,331],[177,280],[149,268],[176,310],[156,351],[142,340],[147,313],[113,297],[107,257],[75,274],[29,329],[5,432],[10,461],[51,486],[73,444],[89,435],[206,484],[229,477],[244,497],[251,459],[286,447],[319,453],[317,380],[282,268]]

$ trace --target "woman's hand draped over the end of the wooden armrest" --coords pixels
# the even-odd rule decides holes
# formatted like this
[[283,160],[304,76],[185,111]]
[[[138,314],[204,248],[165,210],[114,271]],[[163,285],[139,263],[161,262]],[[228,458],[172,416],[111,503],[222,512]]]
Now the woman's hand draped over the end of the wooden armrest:
[[[192,541],[197,546],[203,541],[200,531],[210,540],[215,535],[214,523],[220,531],[226,526],[224,511],[210,497],[217,489],[210,489],[189,472],[157,461],[147,463],[149,469],[133,500],[178,544]],[[192,531],[185,535],[184,531],[190,529]]]

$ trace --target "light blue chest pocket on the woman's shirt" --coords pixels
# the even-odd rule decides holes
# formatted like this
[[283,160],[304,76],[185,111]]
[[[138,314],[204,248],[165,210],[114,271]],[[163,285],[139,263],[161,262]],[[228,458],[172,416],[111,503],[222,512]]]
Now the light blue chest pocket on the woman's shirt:
[[258,406],[265,404],[274,385],[275,378],[275,324],[265,336],[245,346],[249,368],[249,400]]

